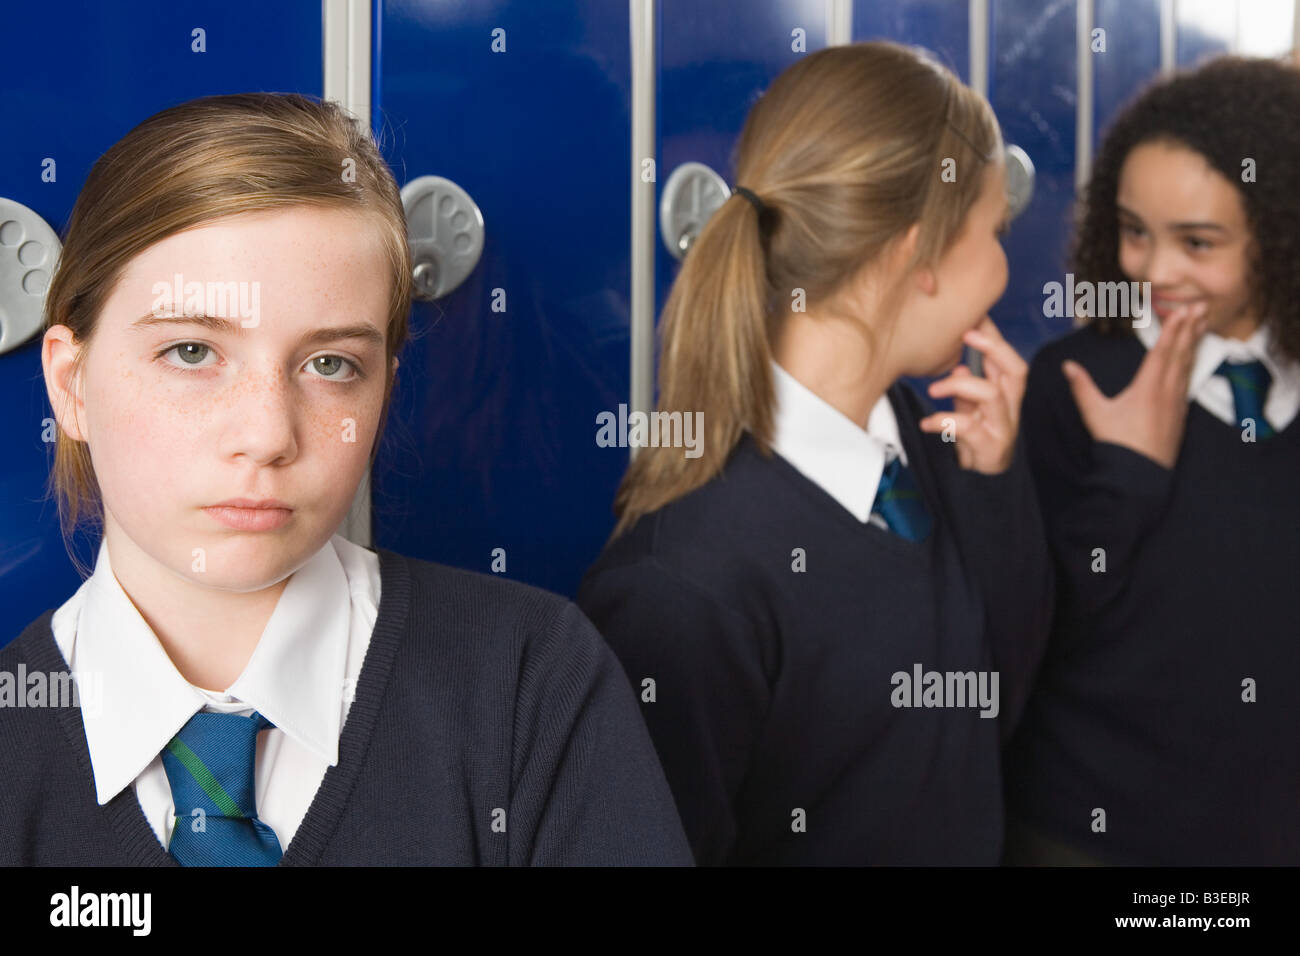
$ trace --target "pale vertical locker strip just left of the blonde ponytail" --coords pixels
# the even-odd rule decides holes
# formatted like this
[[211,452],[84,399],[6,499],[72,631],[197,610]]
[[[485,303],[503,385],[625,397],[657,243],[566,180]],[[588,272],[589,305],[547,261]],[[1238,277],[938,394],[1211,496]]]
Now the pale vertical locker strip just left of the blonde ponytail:
[[[642,182],[641,168],[655,161],[655,23],[656,0],[628,0],[628,26],[632,43],[632,290],[628,303],[630,381],[629,411],[654,408],[654,256],[655,183]],[[637,449],[629,449],[629,457]]]

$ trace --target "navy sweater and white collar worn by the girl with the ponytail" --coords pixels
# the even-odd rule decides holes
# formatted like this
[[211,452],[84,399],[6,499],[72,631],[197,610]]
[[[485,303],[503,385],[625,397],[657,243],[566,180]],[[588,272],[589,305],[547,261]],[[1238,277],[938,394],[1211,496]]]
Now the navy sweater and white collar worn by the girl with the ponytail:
[[[578,605],[641,693],[697,862],[996,864],[1000,740],[1050,618],[1022,455],[966,471],[909,385],[863,431],[772,372],[775,454],[745,434],[720,475],[606,546]],[[872,516],[892,459],[923,537]],[[918,665],[1000,671],[997,715],[896,706]]]

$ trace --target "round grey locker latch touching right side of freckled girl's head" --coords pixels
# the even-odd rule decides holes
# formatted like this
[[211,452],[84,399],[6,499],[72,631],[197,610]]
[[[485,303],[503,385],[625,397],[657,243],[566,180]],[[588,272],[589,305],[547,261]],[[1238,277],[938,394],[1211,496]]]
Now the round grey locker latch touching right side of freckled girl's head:
[[484,215],[460,186],[421,176],[402,187],[411,246],[412,297],[441,299],[474,271],[484,251]]

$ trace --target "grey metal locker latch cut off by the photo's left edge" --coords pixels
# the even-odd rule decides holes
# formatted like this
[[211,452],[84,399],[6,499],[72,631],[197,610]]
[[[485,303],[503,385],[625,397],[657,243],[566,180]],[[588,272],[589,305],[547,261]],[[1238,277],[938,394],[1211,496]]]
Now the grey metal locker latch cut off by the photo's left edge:
[[40,332],[46,290],[62,248],[38,213],[0,198],[0,355]]

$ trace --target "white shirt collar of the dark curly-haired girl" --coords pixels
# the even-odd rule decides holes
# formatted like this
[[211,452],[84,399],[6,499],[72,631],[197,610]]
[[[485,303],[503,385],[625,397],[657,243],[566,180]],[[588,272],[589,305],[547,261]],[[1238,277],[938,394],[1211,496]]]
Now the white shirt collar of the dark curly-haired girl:
[[[1139,341],[1148,350],[1153,349],[1156,339],[1160,338],[1160,317],[1154,312],[1149,315],[1149,323],[1134,326]],[[1236,405],[1232,401],[1232,386],[1222,375],[1214,375],[1214,369],[1225,360],[1252,362],[1254,359],[1262,362],[1273,376],[1273,384],[1269,386],[1269,394],[1264,402],[1264,418],[1269,420],[1274,431],[1280,432],[1300,411],[1300,365],[1273,347],[1269,332],[1264,325],[1260,325],[1244,341],[1223,338],[1213,332],[1206,332],[1196,346],[1192,377],[1187,382],[1187,398],[1195,399],[1221,421],[1240,427],[1242,423],[1236,420]]]

